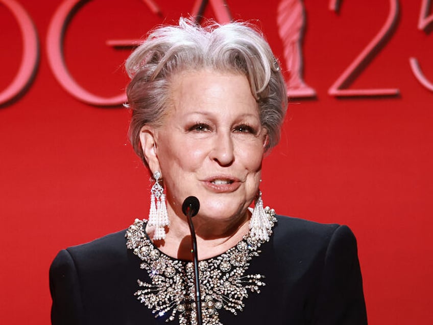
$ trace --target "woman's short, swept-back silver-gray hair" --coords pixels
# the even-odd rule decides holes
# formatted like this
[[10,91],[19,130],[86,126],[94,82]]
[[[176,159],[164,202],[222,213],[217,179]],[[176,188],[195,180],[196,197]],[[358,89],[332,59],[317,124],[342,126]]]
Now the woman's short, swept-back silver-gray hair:
[[145,164],[140,130],[145,125],[162,124],[169,106],[171,77],[188,70],[210,68],[245,75],[258,103],[261,125],[269,134],[267,149],[279,141],[287,109],[286,85],[268,42],[245,22],[208,22],[202,27],[180,18],[178,26],[151,31],[125,66],[131,78],[127,88],[127,106],[132,109],[129,137]]

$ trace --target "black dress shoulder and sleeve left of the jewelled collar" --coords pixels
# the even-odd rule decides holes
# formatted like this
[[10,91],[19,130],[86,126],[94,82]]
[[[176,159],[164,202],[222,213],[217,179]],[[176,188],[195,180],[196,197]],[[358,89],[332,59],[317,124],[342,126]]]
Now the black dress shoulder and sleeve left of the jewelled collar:
[[118,231],[57,254],[50,267],[53,324],[123,323],[135,313],[139,304],[134,304],[132,293],[142,270],[126,246],[125,233]]

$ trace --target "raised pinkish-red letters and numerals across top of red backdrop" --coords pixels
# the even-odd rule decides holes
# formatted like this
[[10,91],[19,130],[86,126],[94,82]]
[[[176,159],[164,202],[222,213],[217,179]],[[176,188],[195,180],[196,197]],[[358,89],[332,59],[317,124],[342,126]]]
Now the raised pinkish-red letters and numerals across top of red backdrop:
[[[60,85],[76,99],[97,106],[116,106],[126,101],[125,94],[113,97],[101,97],[91,94],[88,90],[78,84],[69,74],[63,57],[62,39],[67,28],[71,14],[86,0],[63,1],[51,19],[49,30],[46,35],[46,53],[50,67]],[[349,1],[349,0],[347,0]],[[155,0],[142,0],[153,14],[162,15]],[[0,90],[0,105],[7,104],[22,94],[31,84],[37,71],[39,63],[39,42],[36,27],[34,26],[28,12],[15,0],[0,0],[13,14],[18,22],[23,43],[21,64],[12,82],[6,89]],[[224,24],[232,20],[230,8],[224,0],[196,0],[191,10],[193,17],[203,15],[206,6],[211,6],[215,18]],[[418,30],[427,33],[433,27],[433,14],[429,13],[429,0],[422,0],[418,19]],[[375,37],[366,45],[357,57],[347,66],[338,79],[329,87],[328,94],[336,97],[365,97],[365,96],[395,96],[399,94],[397,88],[370,88],[350,89],[348,88],[354,79],[369,64],[371,59],[383,48],[391,38],[392,32],[397,25],[399,11],[398,0],[389,0],[389,14]],[[339,0],[329,0],[329,10],[338,12]],[[305,8],[302,0],[281,0],[276,12],[278,34],[283,44],[283,58],[290,75],[288,77],[288,95],[291,98],[315,97],[316,91],[303,80],[302,77],[302,36],[305,24]],[[107,40],[110,47],[134,47],[139,40]],[[418,59],[408,59],[409,66],[415,78],[420,84],[433,91],[433,82],[428,80],[420,67]]]

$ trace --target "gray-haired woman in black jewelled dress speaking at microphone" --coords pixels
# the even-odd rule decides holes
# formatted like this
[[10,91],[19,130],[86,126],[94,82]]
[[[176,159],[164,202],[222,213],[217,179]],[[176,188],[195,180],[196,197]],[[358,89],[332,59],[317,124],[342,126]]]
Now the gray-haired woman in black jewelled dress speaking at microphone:
[[204,324],[366,324],[350,229],[263,208],[261,162],[287,99],[260,34],[180,19],[126,66],[131,143],[154,177],[149,220],[58,254],[53,324],[196,324],[190,195]]

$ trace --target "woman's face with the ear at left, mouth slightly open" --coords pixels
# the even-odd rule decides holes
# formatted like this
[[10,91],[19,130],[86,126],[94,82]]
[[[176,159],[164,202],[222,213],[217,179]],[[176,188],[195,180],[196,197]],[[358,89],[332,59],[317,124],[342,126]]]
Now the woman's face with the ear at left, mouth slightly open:
[[247,78],[187,72],[171,89],[162,126],[141,136],[151,171],[161,171],[169,215],[182,216],[183,200],[194,195],[201,219],[242,218],[258,191],[267,141]]

